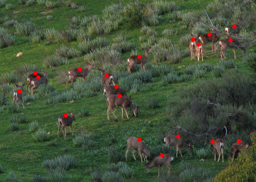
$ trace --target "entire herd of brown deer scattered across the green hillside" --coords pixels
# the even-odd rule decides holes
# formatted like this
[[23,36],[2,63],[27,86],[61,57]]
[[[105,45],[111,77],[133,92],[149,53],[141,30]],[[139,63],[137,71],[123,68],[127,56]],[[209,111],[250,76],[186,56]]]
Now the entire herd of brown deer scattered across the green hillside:
[[[216,28],[212,28],[212,33],[210,34],[202,34],[200,36],[198,35],[192,35],[192,37],[194,37],[194,41],[189,43],[189,49],[190,49],[190,56],[191,56],[191,60],[195,59],[197,57],[197,60],[200,61],[200,57],[203,61],[203,56],[204,56],[204,52],[207,53],[206,49],[204,48],[204,46],[206,45],[207,42],[212,42],[212,52],[216,52],[217,50],[217,46],[216,46],[216,42],[220,39],[220,32],[219,29],[220,27],[216,27]],[[232,48],[234,51],[234,55],[236,58],[236,54],[235,54],[235,50],[238,48],[242,49],[242,52],[245,53],[245,48],[242,46],[242,44],[237,40],[237,39],[233,39],[233,42],[229,42],[229,36],[232,34],[238,34],[239,33],[239,26],[237,25],[237,28],[232,28],[232,26],[227,26],[225,28],[226,34],[227,34],[227,38],[222,39],[219,41],[219,46],[221,47],[221,51],[220,51],[220,55],[221,55],[221,59],[225,58],[225,54],[224,51],[226,49],[230,49]],[[198,41],[201,41],[201,45],[197,46]],[[149,48],[142,48],[145,51],[145,55],[142,55],[141,58],[138,58],[137,55],[133,55],[131,57],[129,57],[127,59],[129,66],[128,66],[128,72],[131,73],[131,69],[134,66],[134,64],[141,64],[141,69],[145,69],[145,63],[148,60],[148,53],[149,50],[151,49],[151,47]],[[66,89],[68,87],[69,82],[73,83],[76,78],[78,77],[82,77],[82,79],[85,81],[85,77],[88,75],[88,73],[91,72],[91,70],[93,68],[95,68],[96,66],[94,66],[91,63],[87,62],[87,68],[82,68],[81,70],[79,70],[78,68],[74,68],[68,71],[68,75],[69,78],[66,81]],[[122,109],[122,118],[123,118],[123,112],[125,111],[126,117],[129,118],[128,115],[128,108],[131,108],[133,110],[133,114],[135,117],[138,116],[138,106],[136,106],[135,104],[133,104],[131,96],[128,97],[128,95],[125,93],[125,91],[120,88],[119,86],[116,87],[116,83],[115,83],[115,79],[114,79],[114,75],[111,73],[106,73],[107,69],[100,69],[98,68],[99,71],[101,72],[101,81],[102,84],[104,85],[104,94],[107,94],[107,98],[106,98],[106,102],[107,102],[107,118],[108,120],[110,120],[110,116],[109,113],[110,111],[113,113],[114,117],[117,120],[117,116],[115,114],[115,110],[114,108],[116,106],[121,107]],[[41,84],[47,84],[48,82],[48,72],[44,72],[41,71],[43,74],[38,73],[37,75],[40,76],[40,78],[36,78],[37,75],[31,74],[27,77],[27,91],[30,91],[31,94],[35,93],[35,90],[39,87],[39,85]],[[106,76],[107,75],[107,76]],[[111,85],[112,84],[112,85]],[[16,87],[18,89],[20,89],[21,91],[23,91],[23,85],[19,86],[16,85]],[[22,93],[18,93],[17,90],[14,91],[13,94],[13,104],[17,103],[19,106],[19,101],[21,101],[22,105],[23,105],[23,109],[24,109],[24,103],[23,103],[23,99],[22,99]],[[69,126],[70,130],[72,132],[73,135],[73,130],[72,130],[72,122],[75,121],[75,115],[76,113],[68,113],[66,117],[64,117],[64,115],[59,116],[58,118],[58,123],[59,123],[59,129],[58,129],[58,137],[59,137],[59,133],[61,130],[61,126],[62,127],[62,133],[64,138],[66,138],[66,127]],[[146,164],[146,172],[149,172],[149,170],[152,167],[158,167],[158,177],[159,177],[159,170],[160,168],[162,169],[163,165],[166,165],[169,169],[168,174],[171,172],[171,166],[170,166],[170,162],[174,159],[170,154],[164,154],[164,156],[157,156],[154,157],[152,163],[148,164],[148,160],[149,160],[149,156],[151,154],[151,152],[149,152],[146,148],[146,144],[144,142],[138,142],[137,140],[138,138],[136,137],[130,137],[127,140],[127,150],[125,152],[125,157],[127,160],[128,157],[128,152],[130,151],[131,148],[133,148],[133,158],[134,160],[136,160],[135,157],[135,151],[139,152],[140,155],[140,159],[141,162],[143,163],[143,161],[145,161]],[[176,157],[178,157],[178,152],[180,153],[181,157],[181,148],[185,148],[187,150],[189,150],[190,152],[193,152],[193,148],[191,146],[191,144],[187,145],[183,139],[181,138],[177,138],[175,135],[172,134],[168,134],[167,136],[165,136],[164,138],[164,143],[165,146],[175,146],[176,147]],[[224,161],[224,156],[223,156],[223,151],[224,151],[224,141],[222,139],[216,139],[215,143],[213,143],[213,145],[211,146],[211,149],[213,151],[214,154],[214,160],[216,160],[216,152],[218,152],[219,157],[218,157],[218,161],[222,155],[222,162]],[[229,157],[234,158],[235,154],[238,153],[238,156],[240,155],[240,152],[242,150],[245,150],[248,148],[248,144],[245,142],[241,142],[241,143],[234,143],[231,146],[231,153],[229,154]]]

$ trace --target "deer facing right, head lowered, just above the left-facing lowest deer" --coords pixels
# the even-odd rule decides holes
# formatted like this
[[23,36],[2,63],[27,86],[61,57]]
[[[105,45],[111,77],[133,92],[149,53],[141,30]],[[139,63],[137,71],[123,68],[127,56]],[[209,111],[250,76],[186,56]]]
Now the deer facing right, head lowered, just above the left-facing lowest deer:
[[182,157],[181,154],[181,149],[180,148],[185,148],[188,149],[189,151],[193,152],[193,148],[191,147],[191,144],[186,145],[186,143],[184,143],[182,138],[177,139],[177,137],[173,134],[168,134],[165,139],[165,146],[176,146],[177,148],[177,152],[176,152],[176,157],[178,157],[178,151],[180,152],[180,155]]

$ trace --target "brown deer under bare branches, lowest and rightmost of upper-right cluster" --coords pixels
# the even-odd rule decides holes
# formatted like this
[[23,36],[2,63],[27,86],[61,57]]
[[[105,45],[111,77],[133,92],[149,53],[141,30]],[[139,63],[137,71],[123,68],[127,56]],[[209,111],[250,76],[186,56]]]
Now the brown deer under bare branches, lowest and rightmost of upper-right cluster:
[[232,42],[229,42],[229,38],[225,38],[219,41],[219,46],[221,47],[221,60],[226,59],[226,56],[224,54],[224,51],[226,51],[227,49],[233,49],[234,55],[236,58],[236,49],[240,48],[242,50],[242,53],[245,53],[245,48],[242,46],[242,44],[237,40],[237,39],[233,39]]

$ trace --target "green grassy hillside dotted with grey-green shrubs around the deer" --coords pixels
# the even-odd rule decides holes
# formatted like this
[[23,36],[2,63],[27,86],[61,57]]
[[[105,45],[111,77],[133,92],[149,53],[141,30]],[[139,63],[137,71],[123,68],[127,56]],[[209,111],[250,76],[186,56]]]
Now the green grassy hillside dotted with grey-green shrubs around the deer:
[[[253,42],[241,40],[249,53],[238,59],[233,60],[233,51],[228,50],[228,60],[220,62],[218,48],[216,53],[210,52],[204,56],[204,63],[190,61],[187,45],[190,33],[210,31],[209,27],[200,23],[210,25],[204,10],[209,13],[214,27],[221,25],[221,39],[225,37],[226,24],[235,22],[247,24],[240,36],[253,39],[250,30],[255,31],[255,7],[249,5],[249,9],[244,10],[236,1],[230,4],[227,1],[223,5],[220,1],[212,3],[210,0],[166,1],[167,4],[165,1],[158,4],[158,1],[151,0],[133,3],[127,0],[21,2],[0,0],[0,28],[4,28],[0,32],[0,181],[36,181],[33,180],[35,175],[41,175],[37,178],[46,178],[46,181],[64,181],[64,178],[67,182],[94,181],[92,176],[109,172],[114,168],[112,163],[125,161],[126,140],[130,136],[142,138],[151,151],[150,161],[160,153],[171,154],[174,161],[171,162],[171,175],[162,175],[163,178],[157,179],[157,169],[153,168],[146,174],[145,163],[140,162],[137,152],[137,160],[134,161],[130,151],[128,161],[125,162],[128,166],[121,163],[124,172],[118,173],[124,177],[123,181],[211,181],[228,165],[227,152],[238,137],[250,143],[248,133],[256,128],[254,92],[251,91],[255,84],[251,79],[254,73],[249,66],[251,64],[247,64],[255,55]],[[111,6],[114,3],[121,5]],[[109,9],[106,8],[108,6]],[[237,13],[230,16],[231,10],[217,12],[215,7],[220,6],[236,7]],[[245,13],[241,15],[243,10]],[[246,12],[251,16],[247,16]],[[99,19],[95,20],[93,15]],[[220,18],[216,18],[218,16]],[[6,33],[2,33],[5,30]],[[11,36],[15,36],[13,43],[10,43],[14,40]],[[6,40],[9,42],[6,43]],[[141,48],[148,46],[152,46],[152,49],[146,71],[139,71],[140,66],[136,65],[133,73],[127,74],[127,57],[132,54],[143,55]],[[206,49],[211,49],[210,43]],[[64,56],[68,51],[70,54]],[[16,57],[18,52],[24,55]],[[241,49],[236,54],[241,56]],[[133,103],[139,105],[138,118],[129,111],[130,119],[122,119],[121,109],[116,107],[119,121],[114,121],[112,113],[111,121],[108,121],[106,96],[102,95],[104,87],[98,68],[89,73],[86,82],[78,78],[73,86],[68,85],[66,91],[67,71],[75,67],[84,68],[87,61],[100,68],[108,67],[108,72],[114,73],[118,85],[125,88],[128,95],[132,95]],[[26,82],[27,75],[34,70],[39,72],[40,69],[49,71],[49,86],[40,86],[34,96],[24,90],[24,111],[12,106],[14,84],[21,85]],[[229,102],[232,99],[220,95],[219,107],[222,110],[218,110],[219,107],[215,110],[216,113],[225,110],[226,113],[244,114],[242,116],[250,127],[245,122],[239,125],[240,121],[233,119],[233,122],[224,116],[215,118],[209,113],[204,115],[204,122],[201,110],[192,112],[188,103],[194,98],[196,89],[201,97],[208,98],[211,86],[215,88],[214,83],[224,85],[225,81],[235,82],[234,75],[241,77],[244,81],[241,81],[242,84],[250,82],[248,88],[251,90],[246,90],[251,91],[248,103],[246,94],[241,97],[245,103]],[[208,82],[210,84],[207,85]],[[243,88],[247,87],[241,85],[238,92],[243,92]],[[240,98],[240,95],[237,97]],[[207,105],[207,109],[212,108]],[[67,138],[64,139],[62,133],[58,138],[58,117],[71,112],[76,113],[76,121],[73,122],[75,135],[72,136],[67,127]],[[200,116],[202,120],[195,122],[195,117]],[[15,120],[15,117],[18,119]],[[209,118],[212,118],[211,122]],[[38,122],[41,128],[39,131],[47,133],[46,141],[35,141],[40,133],[31,131],[31,123],[34,121]],[[199,137],[195,136],[207,132],[208,128],[209,131],[210,128],[221,130],[224,125],[227,126],[228,121],[229,135],[224,138],[227,142],[225,161],[218,163],[213,160],[210,139],[224,136],[219,133],[208,133],[203,139],[201,136],[196,139]],[[14,128],[16,122],[17,130]],[[171,129],[177,125],[194,135]],[[11,126],[15,131],[11,131]],[[194,153],[182,149],[183,158],[180,155],[176,158],[174,147],[163,146],[163,138],[168,133],[180,134],[186,143],[192,142]],[[81,142],[81,146],[76,145],[77,142]],[[43,163],[64,154],[72,155],[76,160],[76,165],[70,165],[66,172],[61,168],[48,169]],[[202,158],[203,161],[200,160]],[[63,158],[64,163],[69,160]],[[167,167],[163,168],[166,174]],[[57,176],[63,178],[54,180],[53,177]],[[104,181],[113,181],[106,179],[106,176]]]

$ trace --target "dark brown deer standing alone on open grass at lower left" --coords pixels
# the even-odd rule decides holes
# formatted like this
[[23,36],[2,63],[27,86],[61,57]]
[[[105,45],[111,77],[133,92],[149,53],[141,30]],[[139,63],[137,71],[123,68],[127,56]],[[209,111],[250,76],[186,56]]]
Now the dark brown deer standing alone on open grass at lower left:
[[[68,114],[67,114],[67,118],[64,117],[64,114],[62,114],[62,115],[59,116],[58,137],[59,137],[59,131],[61,130],[61,125],[63,125],[63,127],[62,127],[62,133],[63,133],[63,136],[64,136],[65,138],[66,138],[66,129],[67,129],[67,126],[70,126],[70,130],[71,130],[71,133],[72,133],[72,135],[73,135],[72,122],[73,122],[73,121],[76,121],[75,115],[76,115],[76,113],[68,113]],[[65,130],[65,131],[64,131],[64,130]]]

